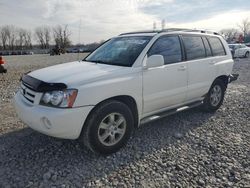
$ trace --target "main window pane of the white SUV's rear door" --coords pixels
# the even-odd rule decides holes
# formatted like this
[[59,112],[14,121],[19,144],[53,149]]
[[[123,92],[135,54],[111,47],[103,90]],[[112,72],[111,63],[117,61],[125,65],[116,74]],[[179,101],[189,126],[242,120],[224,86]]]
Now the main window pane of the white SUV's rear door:
[[206,57],[205,48],[201,37],[183,36],[187,60],[200,59]]

